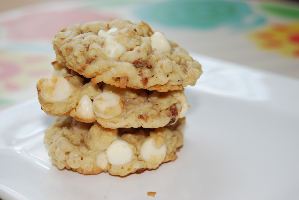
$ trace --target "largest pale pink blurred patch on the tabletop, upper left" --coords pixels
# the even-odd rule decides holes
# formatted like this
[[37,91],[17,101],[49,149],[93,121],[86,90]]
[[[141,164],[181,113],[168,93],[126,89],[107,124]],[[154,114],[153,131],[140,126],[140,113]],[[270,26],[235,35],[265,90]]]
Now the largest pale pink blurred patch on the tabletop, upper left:
[[57,31],[65,26],[97,20],[108,21],[109,19],[115,19],[115,16],[80,9],[54,10],[20,16],[13,20],[1,22],[0,26],[7,29],[5,37],[9,39],[51,40]]

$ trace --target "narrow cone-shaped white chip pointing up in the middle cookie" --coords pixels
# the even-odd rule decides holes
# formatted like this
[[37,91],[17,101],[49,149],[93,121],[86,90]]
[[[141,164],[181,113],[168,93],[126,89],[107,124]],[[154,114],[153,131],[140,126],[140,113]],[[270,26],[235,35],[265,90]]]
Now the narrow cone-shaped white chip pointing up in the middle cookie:
[[76,115],[81,119],[89,120],[94,118],[92,101],[86,94],[84,94],[78,102],[76,107]]

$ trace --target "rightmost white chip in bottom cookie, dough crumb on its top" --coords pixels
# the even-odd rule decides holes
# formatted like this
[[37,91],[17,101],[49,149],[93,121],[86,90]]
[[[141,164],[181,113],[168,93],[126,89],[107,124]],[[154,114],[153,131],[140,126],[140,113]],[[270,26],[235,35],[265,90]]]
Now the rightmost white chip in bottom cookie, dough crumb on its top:
[[161,164],[166,156],[166,151],[165,143],[160,148],[157,148],[154,145],[154,138],[149,138],[142,144],[139,158],[146,162]]

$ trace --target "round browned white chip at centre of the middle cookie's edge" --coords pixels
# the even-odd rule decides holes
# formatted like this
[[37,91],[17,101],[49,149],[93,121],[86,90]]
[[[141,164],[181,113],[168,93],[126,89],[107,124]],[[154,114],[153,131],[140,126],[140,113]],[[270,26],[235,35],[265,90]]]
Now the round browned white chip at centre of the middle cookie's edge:
[[123,99],[112,91],[102,92],[94,98],[93,110],[97,117],[111,119],[123,112]]

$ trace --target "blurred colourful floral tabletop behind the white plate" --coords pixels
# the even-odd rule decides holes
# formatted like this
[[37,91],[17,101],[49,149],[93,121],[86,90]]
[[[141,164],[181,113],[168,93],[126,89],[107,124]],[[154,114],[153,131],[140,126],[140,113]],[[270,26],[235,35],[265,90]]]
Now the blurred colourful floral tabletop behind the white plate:
[[0,109],[37,98],[37,81],[52,73],[51,39],[60,28],[111,19],[142,20],[187,51],[299,78],[299,4],[295,2],[4,1]]

